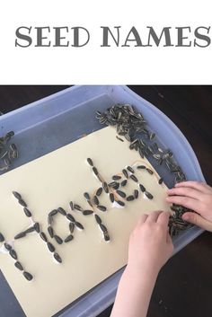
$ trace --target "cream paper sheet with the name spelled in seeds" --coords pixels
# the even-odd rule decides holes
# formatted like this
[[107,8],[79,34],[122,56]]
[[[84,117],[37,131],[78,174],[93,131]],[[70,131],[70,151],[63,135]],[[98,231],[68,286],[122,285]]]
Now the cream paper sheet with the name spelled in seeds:
[[[90,208],[83,193],[88,191],[92,195],[101,184],[86,163],[87,157],[93,159],[107,182],[111,181],[112,175],[137,160],[149,164],[146,159],[141,160],[136,151],[129,150],[128,141],[123,140],[121,142],[116,138],[115,129],[103,128],[2,175],[0,232],[4,233],[6,240],[13,240],[16,233],[31,225],[30,219],[13,198],[13,190],[22,194],[33,219],[48,234],[47,216],[52,209],[63,207],[70,211],[70,200]],[[141,170],[136,172],[136,176],[154,195],[154,199],[144,198],[139,191],[137,200],[127,202],[125,208],[111,208],[109,197],[103,193],[101,204],[107,205],[109,209],[105,213],[97,211],[97,214],[109,230],[110,242],[102,239],[93,215],[83,216],[73,211],[75,219],[84,225],[84,231],[75,230],[75,239],[62,245],[58,245],[48,235],[49,242],[53,242],[63,260],[62,264],[53,261],[38,233],[31,233],[14,242],[13,247],[24,269],[34,276],[31,282],[22,277],[9,255],[0,253],[0,268],[27,316],[49,317],[57,313],[123,267],[128,256],[128,237],[139,216],[155,209],[169,210],[164,202],[166,188],[158,184],[157,174],[150,175]],[[134,181],[128,181],[128,185],[123,188],[128,195],[133,189],[138,189]],[[57,215],[54,228],[58,235],[65,238],[69,233],[66,217]]]

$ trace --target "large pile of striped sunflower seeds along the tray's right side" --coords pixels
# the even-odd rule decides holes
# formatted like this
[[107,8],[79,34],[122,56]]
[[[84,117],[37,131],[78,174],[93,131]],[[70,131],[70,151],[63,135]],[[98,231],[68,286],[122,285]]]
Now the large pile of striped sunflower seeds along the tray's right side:
[[[156,160],[158,165],[162,165],[172,173],[174,183],[186,181],[185,174],[181,167],[173,158],[170,149],[163,149],[155,142],[155,132],[147,128],[145,118],[140,112],[130,104],[115,104],[105,112],[96,112],[96,119],[102,125],[116,128],[117,134],[128,140],[129,149],[136,150],[141,158]],[[169,229],[172,236],[177,235],[182,230],[188,229],[191,225],[181,219],[181,215],[188,211],[187,208],[173,205],[174,215],[171,216]]]

